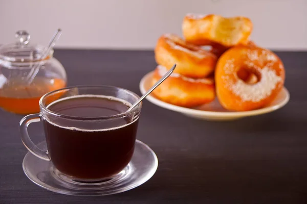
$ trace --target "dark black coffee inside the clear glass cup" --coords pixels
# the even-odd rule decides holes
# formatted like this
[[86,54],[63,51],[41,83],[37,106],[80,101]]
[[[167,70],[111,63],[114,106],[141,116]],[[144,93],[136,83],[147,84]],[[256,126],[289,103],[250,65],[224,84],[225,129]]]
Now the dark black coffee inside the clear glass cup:
[[[80,179],[99,179],[120,172],[133,156],[138,119],[112,120],[112,116],[125,112],[129,106],[124,100],[101,95],[77,95],[49,104],[48,110],[80,124],[77,128],[64,119],[51,121],[41,117],[48,155],[54,166]],[[112,127],[107,122],[99,123],[99,119],[96,121],[103,116],[110,117]],[[86,122],[82,123],[83,120]]]

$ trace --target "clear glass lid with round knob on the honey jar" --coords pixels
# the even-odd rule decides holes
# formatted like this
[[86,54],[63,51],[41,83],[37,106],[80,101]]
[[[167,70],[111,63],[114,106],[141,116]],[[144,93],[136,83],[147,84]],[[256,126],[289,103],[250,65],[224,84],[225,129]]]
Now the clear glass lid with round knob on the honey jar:
[[[0,60],[8,62],[33,62],[41,60],[40,57],[45,46],[30,43],[30,34],[27,31],[17,31],[16,42],[0,46]],[[50,50],[47,58],[53,55]]]

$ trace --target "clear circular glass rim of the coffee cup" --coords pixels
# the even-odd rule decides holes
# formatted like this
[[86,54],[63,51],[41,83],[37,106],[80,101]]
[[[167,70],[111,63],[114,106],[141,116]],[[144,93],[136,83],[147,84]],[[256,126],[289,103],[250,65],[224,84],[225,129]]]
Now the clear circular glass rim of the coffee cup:
[[[39,99],[39,107],[41,110],[53,115],[53,116],[57,116],[57,117],[61,117],[61,118],[65,118],[65,119],[72,119],[72,120],[84,120],[84,121],[88,121],[88,120],[106,120],[106,119],[116,119],[116,118],[123,118],[126,117],[130,114],[134,114],[135,112],[139,111],[142,108],[142,102],[140,102],[135,108],[133,108],[132,110],[128,111],[128,112],[123,112],[123,113],[119,113],[116,115],[111,115],[111,116],[99,116],[99,117],[76,117],[76,116],[69,116],[69,115],[64,115],[64,114],[60,114],[60,113],[56,113],[50,109],[48,109],[44,104],[43,104],[43,99],[45,99],[46,97],[56,93],[56,92],[60,92],[63,90],[70,90],[73,88],[115,88],[115,89],[120,89],[123,90],[131,95],[133,95],[134,97],[136,97],[136,101],[140,98],[139,95],[137,95],[136,93],[134,93],[133,91],[130,91],[128,89],[124,89],[121,87],[116,87],[116,86],[108,86],[108,85],[81,85],[81,86],[69,86],[69,87],[65,87],[65,88],[61,88],[61,89],[57,89],[51,92],[46,93],[45,95],[43,95],[40,99]],[[80,94],[80,95],[84,95],[84,94]],[[101,94],[103,95],[103,94]],[[54,100],[56,101],[56,100]],[[41,113],[40,113],[41,114]]]

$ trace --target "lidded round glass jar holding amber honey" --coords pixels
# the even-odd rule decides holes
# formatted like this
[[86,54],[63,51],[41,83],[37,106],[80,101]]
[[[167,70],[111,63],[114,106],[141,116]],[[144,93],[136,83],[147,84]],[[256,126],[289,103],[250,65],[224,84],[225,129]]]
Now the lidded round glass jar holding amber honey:
[[46,47],[31,44],[28,32],[18,31],[15,37],[15,43],[0,46],[0,108],[16,114],[38,113],[40,97],[64,88],[67,75],[53,49],[42,59]]

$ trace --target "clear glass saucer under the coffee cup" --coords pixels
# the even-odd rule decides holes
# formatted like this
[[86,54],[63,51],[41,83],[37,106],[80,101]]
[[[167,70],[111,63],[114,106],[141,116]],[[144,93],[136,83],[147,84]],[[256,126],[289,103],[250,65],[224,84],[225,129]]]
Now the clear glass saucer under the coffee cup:
[[[37,145],[47,149],[46,142]],[[23,169],[28,178],[47,190],[81,196],[111,195],[140,186],[155,174],[158,159],[155,152],[137,140],[130,163],[118,174],[99,181],[78,181],[59,172],[50,161],[45,161],[28,152]]]

